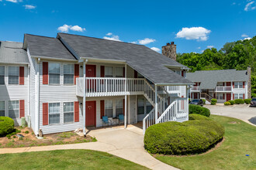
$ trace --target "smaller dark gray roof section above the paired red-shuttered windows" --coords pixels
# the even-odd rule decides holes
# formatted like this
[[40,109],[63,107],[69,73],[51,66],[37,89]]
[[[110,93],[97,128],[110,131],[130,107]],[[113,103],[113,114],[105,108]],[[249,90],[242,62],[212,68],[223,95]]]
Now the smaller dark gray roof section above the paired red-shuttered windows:
[[59,39],[25,34],[24,42],[29,47],[31,56],[76,60]]

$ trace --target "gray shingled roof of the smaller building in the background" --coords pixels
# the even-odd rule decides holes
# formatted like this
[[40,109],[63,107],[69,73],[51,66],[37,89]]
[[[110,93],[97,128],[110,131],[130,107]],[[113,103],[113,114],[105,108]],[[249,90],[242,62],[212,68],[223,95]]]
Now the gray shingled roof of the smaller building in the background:
[[200,89],[214,89],[218,82],[247,81],[247,70],[206,70],[186,73],[192,82],[201,82]]

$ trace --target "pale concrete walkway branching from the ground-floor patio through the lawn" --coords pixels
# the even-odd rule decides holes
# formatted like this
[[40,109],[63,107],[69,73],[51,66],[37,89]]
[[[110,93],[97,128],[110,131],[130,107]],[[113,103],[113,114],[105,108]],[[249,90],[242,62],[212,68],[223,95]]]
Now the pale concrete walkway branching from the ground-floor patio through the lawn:
[[95,151],[105,151],[131,162],[144,165],[150,169],[177,169],[158,161],[144,150],[144,136],[142,130],[136,126],[129,125],[127,129],[123,129],[122,127],[96,129],[89,131],[88,134],[95,137],[98,141],[71,145],[2,148],[0,149],[0,154],[28,151],[53,151],[61,149],[90,149]]

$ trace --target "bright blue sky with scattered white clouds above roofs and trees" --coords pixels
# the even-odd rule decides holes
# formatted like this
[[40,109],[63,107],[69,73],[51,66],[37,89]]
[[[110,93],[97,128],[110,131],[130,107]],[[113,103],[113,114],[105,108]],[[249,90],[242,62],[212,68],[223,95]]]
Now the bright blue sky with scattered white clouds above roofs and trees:
[[0,16],[0,40],[18,42],[24,33],[68,32],[154,50],[174,41],[178,53],[202,53],[256,36],[256,0],[0,0]]

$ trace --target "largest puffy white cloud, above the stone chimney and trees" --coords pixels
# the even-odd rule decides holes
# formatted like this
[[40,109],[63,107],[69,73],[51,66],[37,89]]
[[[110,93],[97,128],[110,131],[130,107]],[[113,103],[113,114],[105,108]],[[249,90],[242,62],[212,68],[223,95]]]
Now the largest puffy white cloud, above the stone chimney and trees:
[[211,30],[205,29],[203,27],[182,28],[182,30],[176,34],[176,38],[206,41],[208,39],[207,35],[209,32],[211,32]]

